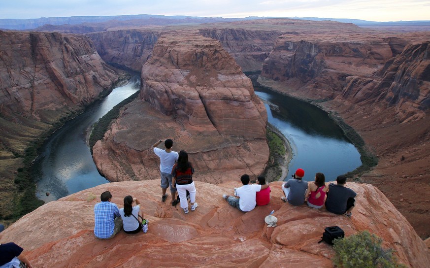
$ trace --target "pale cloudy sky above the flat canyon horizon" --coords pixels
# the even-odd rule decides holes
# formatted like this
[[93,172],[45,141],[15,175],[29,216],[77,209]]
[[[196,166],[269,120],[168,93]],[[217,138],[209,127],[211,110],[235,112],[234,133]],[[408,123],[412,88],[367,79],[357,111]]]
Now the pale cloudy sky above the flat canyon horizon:
[[430,20],[430,0],[0,0],[0,19],[110,15]]

